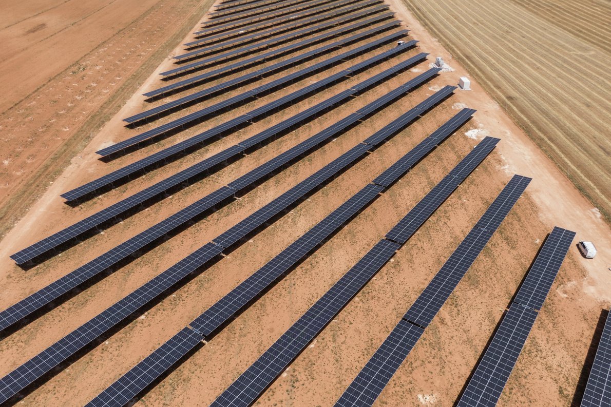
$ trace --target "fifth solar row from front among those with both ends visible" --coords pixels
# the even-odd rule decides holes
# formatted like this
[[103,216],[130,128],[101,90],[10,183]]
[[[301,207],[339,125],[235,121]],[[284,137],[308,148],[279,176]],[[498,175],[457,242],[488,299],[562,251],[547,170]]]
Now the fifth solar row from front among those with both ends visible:
[[[372,0],[372,1],[377,1],[377,0]],[[385,9],[386,7],[381,7],[380,9],[378,9],[377,7],[374,9],[368,9],[365,10],[364,14],[368,14],[370,12],[378,12],[379,10]],[[364,26],[368,25],[368,24],[373,24],[376,23],[378,21],[383,21],[386,20],[387,18],[389,18],[390,16],[394,15],[393,13],[384,13],[382,15],[370,18],[368,20],[364,20],[364,21],[360,21],[359,23],[356,24],[351,24],[349,26],[345,26],[342,28],[339,28],[337,30],[334,31],[329,31],[326,34],[322,34],[322,35],[318,35],[315,37],[312,37],[311,39],[307,39],[307,40],[303,40],[300,42],[296,42],[294,44],[288,45],[288,46],[283,46],[281,48],[277,48],[275,50],[263,53],[263,54],[259,54],[257,56],[248,58],[248,59],[244,59],[241,60],[239,62],[235,62],[233,64],[229,64],[229,65],[224,65],[220,68],[216,68],[214,70],[211,71],[207,71],[206,73],[202,73],[200,75],[196,75],[196,76],[192,76],[191,78],[188,79],[183,79],[182,81],[178,81],[178,82],[174,82],[173,84],[167,85],[167,86],[163,86],[160,87],[158,89],[155,90],[151,90],[150,92],[147,92],[145,94],[143,94],[144,96],[147,97],[153,97],[153,96],[158,96],[158,95],[163,95],[163,94],[167,94],[170,91],[176,90],[176,89],[180,89],[181,87],[185,87],[185,86],[189,86],[192,84],[196,84],[198,82],[202,82],[204,80],[208,80],[210,78],[214,78],[214,76],[217,75],[221,75],[222,73],[228,73],[234,70],[238,70],[238,69],[243,69],[248,67],[249,65],[255,65],[258,62],[266,62],[268,60],[271,59],[276,59],[276,57],[287,54],[287,53],[292,53],[293,51],[299,50],[300,48],[304,48],[304,46],[309,46],[312,44],[316,44],[318,42],[320,42],[321,40],[326,40],[329,38],[329,36],[333,36],[333,35],[344,35],[348,32],[351,32],[353,30],[356,29],[360,29],[363,28]],[[361,17],[361,15],[356,15],[357,17]]]

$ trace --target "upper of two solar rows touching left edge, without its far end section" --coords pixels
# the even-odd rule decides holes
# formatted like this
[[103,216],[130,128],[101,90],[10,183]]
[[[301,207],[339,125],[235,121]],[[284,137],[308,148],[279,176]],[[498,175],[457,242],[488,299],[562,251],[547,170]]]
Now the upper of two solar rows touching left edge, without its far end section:
[[[109,266],[116,264],[122,259],[125,259],[130,254],[133,254],[139,249],[142,249],[146,244],[151,243],[159,237],[163,237],[166,233],[180,227],[186,222],[191,221],[197,216],[202,215],[205,211],[209,211],[214,208],[214,205],[218,205],[225,199],[233,197],[235,193],[242,191],[244,188],[249,188],[254,182],[258,182],[263,177],[273,174],[274,171],[284,166],[287,163],[295,160],[301,155],[307,152],[311,152],[321,143],[328,141],[334,136],[340,134],[340,132],[348,127],[348,125],[357,122],[361,116],[357,114],[351,114],[343,120],[340,120],[340,125],[333,125],[321,133],[315,134],[311,138],[301,142],[295,147],[287,150],[286,152],[276,156],[267,163],[255,168],[251,172],[237,178],[234,182],[230,183],[229,186],[223,186],[214,193],[203,197],[202,199],[194,202],[175,215],[170,216],[162,222],[159,222],[155,226],[152,226],[139,233],[136,237],[131,238],[125,243],[120,244],[116,248],[109,252],[97,257],[84,266],[79,267],[75,271],[71,272],[65,277],[57,280],[56,282],[48,285],[42,290],[28,296],[19,303],[4,310],[0,313],[0,330],[5,329],[12,325],[16,321],[22,320],[27,315],[31,315],[32,312],[48,305],[54,299],[63,295],[64,293],[72,290],[78,285],[85,281],[88,281],[93,276],[98,275],[101,271],[106,270]],[[333,131],[329,131],[329,129]],[[82,229],[83,226],[81,226]]]

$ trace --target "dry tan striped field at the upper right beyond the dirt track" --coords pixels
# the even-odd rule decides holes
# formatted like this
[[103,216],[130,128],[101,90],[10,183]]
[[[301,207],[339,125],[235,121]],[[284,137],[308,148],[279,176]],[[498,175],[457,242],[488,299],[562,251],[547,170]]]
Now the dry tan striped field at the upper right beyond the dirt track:
[[403,1],[611,221],[611,3]]

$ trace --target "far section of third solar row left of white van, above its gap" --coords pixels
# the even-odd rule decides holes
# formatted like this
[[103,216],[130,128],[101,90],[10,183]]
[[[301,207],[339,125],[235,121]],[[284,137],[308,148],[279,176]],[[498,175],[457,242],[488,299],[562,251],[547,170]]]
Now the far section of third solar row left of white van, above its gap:
[[[463,160],[458,163],[458,165],[450,171],[448,175],[446,175],[437,185],[428,193],[418,204],[409,211],[408,215],[406,215],[400,222],[398,222],[397,226],[393,227],[389,233],[386,234],[386,238],[397,241],[398,243],[405,243],[414,233],[423,220],[428,219],[429,216],[433,213],[433,211],[441,205],[445,199],[447,199],[450,194],[456,189],[456,187],[461,183],[467,175],[471,171],[477,167],[481,161],[486,158],[492,149],[496,146],[499,139],[487,137],[483,139],[483,141],[478,144],[475,149],[473,149]],[[461,174],[463,178],[455,177],[455,169],[465,169],[470,171],[463,171]],[[423,325],[425,326],[425,325]]]

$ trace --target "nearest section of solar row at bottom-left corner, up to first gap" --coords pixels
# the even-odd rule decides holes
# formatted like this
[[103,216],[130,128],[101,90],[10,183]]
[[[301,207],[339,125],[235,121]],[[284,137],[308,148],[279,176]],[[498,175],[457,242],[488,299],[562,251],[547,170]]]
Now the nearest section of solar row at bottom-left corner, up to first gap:
[[81,325],[58,342],[46,348],[8,375],[0,379],[0,403],[23,390],[35,380],[58,367],[77,351],[86,347],[104,332],[116,326],[133,312],[148,304],[167,288],[186,277],[192,271],[221,254],[222,248],[208,243],[174,266],[159,274],[151,281],[132,292],[130,295],[113,304],[98,314],[97,317]]

